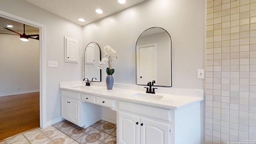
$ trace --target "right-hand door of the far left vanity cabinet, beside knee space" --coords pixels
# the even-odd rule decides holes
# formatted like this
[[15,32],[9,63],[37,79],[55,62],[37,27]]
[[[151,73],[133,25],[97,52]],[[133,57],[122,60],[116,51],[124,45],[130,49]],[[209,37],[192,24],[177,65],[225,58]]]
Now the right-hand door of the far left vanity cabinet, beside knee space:
[[80,125],[80,106],[79,101],[69,99],[70,101],[70,122],[76,125]]

